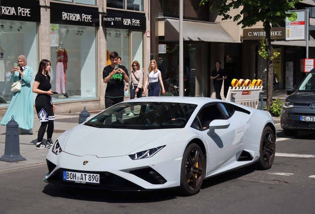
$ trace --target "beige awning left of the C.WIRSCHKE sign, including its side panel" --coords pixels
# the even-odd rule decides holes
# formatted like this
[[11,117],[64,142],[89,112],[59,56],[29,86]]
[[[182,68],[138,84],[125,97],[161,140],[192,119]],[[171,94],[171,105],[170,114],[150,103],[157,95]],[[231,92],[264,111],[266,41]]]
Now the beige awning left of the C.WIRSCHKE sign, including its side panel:
[[[164,40],[179,40],[179,20],[165,19]],[[184,41],[236,43],[235,40],[217,23],[183,21]]]

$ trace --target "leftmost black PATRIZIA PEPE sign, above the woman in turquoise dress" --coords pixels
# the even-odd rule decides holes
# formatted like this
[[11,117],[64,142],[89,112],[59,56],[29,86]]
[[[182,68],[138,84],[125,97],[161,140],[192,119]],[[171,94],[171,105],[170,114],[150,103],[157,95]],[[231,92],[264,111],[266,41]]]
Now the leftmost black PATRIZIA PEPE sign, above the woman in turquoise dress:
[[0,1],[1,19],[15,21],[41,21],[41,7],[38,0],[2,0]]

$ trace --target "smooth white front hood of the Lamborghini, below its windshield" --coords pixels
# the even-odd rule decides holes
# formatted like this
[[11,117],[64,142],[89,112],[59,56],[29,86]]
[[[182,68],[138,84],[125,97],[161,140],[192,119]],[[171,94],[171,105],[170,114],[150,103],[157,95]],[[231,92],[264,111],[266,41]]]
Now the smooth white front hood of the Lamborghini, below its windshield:
[[99,158],[125,156],[175,130],[112,129],[78,125],[66,138],[63,151],[76,156],[95,155]]

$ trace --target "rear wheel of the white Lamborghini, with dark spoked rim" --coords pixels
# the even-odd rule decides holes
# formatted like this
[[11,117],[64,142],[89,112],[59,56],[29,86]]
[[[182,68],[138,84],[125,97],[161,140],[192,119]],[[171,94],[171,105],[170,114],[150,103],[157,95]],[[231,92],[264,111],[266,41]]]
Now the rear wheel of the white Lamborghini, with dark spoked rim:
[[273,163],[275,156],[275,136],[269,126],[262,131],[260,158],[257,162],[258,169],[269,169]]

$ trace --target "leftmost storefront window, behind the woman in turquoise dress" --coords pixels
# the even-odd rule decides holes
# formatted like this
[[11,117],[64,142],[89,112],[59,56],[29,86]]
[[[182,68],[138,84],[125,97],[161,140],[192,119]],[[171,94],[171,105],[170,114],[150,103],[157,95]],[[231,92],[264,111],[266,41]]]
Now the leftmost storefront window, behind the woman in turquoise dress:
[[[0,20],[0,104],[8,106],[12,99],[10,75],[13,63],[21,54],[27,58],[27,65],[33,68],[33,81],[38,69],[36,22]],[[34,94],[34,101],[36,95]]]

